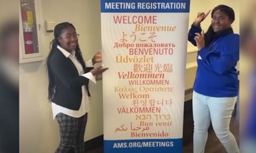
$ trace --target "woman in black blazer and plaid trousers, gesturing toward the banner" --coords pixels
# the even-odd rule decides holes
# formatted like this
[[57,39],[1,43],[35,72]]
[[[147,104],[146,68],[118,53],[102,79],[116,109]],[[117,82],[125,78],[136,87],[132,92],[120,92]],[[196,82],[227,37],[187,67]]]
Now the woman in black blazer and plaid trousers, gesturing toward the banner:
[[70,152],[72,148],[77,153],[84,152],[83,137],[90,96],[88,82],[96,82],[94,76],[107,70],[93,68],[93,64],[102,62],[100,53],[84,62],[78,36],[71,23],[57,24],[47,58],[48,99],[52,102],[53,119],[58,121],[61,136],[55,152]]

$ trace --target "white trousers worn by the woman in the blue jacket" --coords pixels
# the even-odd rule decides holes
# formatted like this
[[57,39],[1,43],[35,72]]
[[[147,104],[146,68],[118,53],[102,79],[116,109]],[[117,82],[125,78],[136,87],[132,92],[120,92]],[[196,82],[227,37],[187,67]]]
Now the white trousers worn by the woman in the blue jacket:
[[239,152],[237,141],[229,130],[236,102],[237,96],[216,98],[193,92],[194,153],[204,153],[210,121],[216,136],[227,152]]

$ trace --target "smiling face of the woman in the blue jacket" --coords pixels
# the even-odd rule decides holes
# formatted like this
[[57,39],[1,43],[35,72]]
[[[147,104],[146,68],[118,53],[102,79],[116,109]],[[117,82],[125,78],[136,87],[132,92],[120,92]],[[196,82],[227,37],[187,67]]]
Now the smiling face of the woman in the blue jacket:
[[211,27],[213,27],[214,32],[221,32],[228,29],[232,23],[229,16],[219,9],[213,13],[211,17]]

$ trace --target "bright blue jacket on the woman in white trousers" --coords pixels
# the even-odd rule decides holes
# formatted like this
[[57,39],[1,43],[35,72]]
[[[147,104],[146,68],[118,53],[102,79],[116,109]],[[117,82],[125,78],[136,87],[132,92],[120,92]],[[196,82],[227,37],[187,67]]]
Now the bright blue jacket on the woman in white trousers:
[[[195,33],[200,27],[191,26],[188,39],[196,45]],[[214,39],[197,55],[198,68],[194,90],[206,96],[232,97],[238,95],[238,75],[235,66],[239,60],[239,35],[229,33]]]

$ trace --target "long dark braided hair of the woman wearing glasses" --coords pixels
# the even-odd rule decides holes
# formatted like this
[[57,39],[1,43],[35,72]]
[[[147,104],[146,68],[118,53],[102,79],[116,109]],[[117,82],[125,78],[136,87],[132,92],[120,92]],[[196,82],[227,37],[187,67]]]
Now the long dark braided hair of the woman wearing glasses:
[[[50,43],[50,53],[49,53],[49,55],[46,59],[46,67],[47,67],[46,69],[47,69],[47,72],[48,72],[48,81],[49,81],[49,84],[48,84],[48,100],[50,100],[50,101],[52,101],[52,99],[54,97],[55,88],[56,88],[55,80],[53,78],[53,73],[52,73],[51,68],[50,68],[50,59],[51,59],[52,54],[55,52],[55,50],[57,48],[57,45],[61,46],[60,42],[58,42],[58,38],[60,37],[63,29],[65,29],[67,27],[72,27],[76,30],[76,28],[73,26],[73,24],[68,23],[68,22],[62,22],[62,23],[59,23],[55,26],[55,28],[54,28],[54,39]],[[81,65],[83,67],[83,70],[85,71],[86,70],[85,60],[83,60],[82,53],[81,53],[81,50],[80,50],[80,47],[79,47],[78,43],[77,43],[75,52],[76,52],[76,58],[81,63]]]

